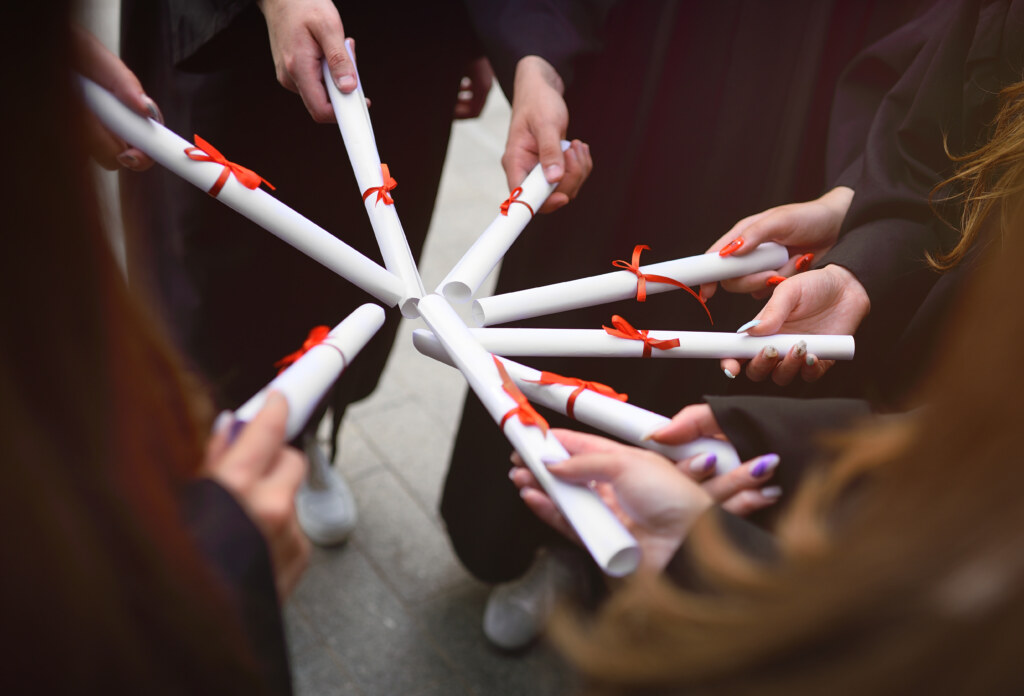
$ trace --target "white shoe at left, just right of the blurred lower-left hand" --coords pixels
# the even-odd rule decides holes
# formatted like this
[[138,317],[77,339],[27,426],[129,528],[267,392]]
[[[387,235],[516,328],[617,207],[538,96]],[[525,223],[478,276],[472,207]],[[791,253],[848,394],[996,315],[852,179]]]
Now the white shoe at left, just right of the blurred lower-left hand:
[[302,448],[309,458],[309,470],[295,494],[299,526],[317,546],[341,543],[355,529],[355,497],[314,435],[305,437]]

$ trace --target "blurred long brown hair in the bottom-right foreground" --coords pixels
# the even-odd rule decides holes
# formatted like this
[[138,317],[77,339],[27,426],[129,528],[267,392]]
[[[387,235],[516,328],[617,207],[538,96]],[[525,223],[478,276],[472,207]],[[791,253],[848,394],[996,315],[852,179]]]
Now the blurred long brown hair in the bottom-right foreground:
[[[997,135],[1011,140],[979,157],[1019,175],[1015,90]],[[978,211],[1019,192],[965,163]],[[846,438],[783,519],[777,565],[746,560],[708,520],[687,545],[711,594],[642,576],[595,622],[555,625],[595,692],[1024,691],[1024,233],[1002,231],[944,335],[930,405]]]

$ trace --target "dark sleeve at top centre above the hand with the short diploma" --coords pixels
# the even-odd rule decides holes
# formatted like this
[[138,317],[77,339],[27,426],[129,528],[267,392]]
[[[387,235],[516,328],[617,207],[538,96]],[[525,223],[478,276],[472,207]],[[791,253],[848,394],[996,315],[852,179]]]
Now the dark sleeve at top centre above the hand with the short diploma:
[[614,0],[465,0],[477,36],[512,100],[519,59],[538,55],[572,80],[574,60],[601,47],[601,30]]

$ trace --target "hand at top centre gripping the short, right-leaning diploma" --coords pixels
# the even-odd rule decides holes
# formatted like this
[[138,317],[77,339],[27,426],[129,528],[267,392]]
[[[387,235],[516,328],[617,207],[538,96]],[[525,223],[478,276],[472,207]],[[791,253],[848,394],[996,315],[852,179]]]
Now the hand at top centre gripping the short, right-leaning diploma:
[[562,79],[544,58],[527,55],[516,64],[512,119],[502,167],[510,190],[522,183],[538,162],[548,182],[558,182],[541,213],[558,210],[574,199],[594,168],[590,145],[585,142],[573,140],[562,153],[561,141],[569,125],[563,90]]

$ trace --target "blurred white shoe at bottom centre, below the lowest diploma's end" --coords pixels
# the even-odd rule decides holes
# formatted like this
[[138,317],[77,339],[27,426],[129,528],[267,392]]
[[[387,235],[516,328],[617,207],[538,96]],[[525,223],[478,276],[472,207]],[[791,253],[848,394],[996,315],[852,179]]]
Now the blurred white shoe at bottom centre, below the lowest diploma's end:
[[483,635],[504,650],[519,650],[537,640],[558,600],[585,582],[579,554],[542,549],[526,574],[499,584],[483,610]]

